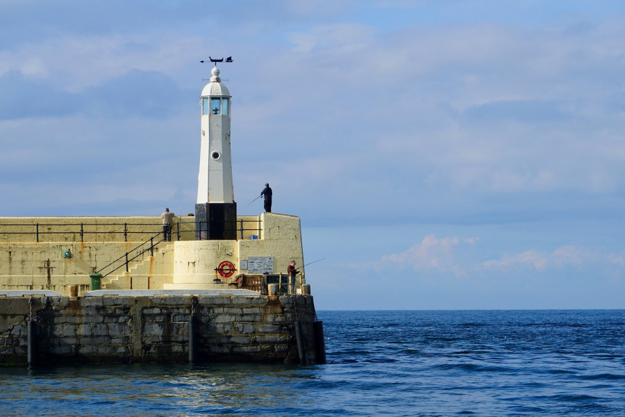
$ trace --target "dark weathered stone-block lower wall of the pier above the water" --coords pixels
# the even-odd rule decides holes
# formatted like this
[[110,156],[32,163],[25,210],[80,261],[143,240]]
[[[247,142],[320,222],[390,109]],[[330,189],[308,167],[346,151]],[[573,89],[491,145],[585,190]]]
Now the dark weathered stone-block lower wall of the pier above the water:
[[2,297],[0,366],[26,365],[30,318],[38,366],[185,362],[192,313],[199,361],[299,363],[297,315],[318,362],[310,295]]

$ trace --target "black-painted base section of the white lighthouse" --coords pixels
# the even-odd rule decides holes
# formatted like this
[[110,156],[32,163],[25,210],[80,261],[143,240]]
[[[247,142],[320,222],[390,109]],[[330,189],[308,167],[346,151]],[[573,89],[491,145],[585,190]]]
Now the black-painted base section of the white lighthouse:
[[237,204],[195,204],[196,240],[236,240]]

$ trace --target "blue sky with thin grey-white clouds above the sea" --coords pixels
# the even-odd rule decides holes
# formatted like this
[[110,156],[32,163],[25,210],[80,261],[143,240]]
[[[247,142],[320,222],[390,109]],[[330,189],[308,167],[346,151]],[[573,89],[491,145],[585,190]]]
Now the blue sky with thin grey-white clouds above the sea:
[[621,1],[0,1],[0,215],[193,211],[208,56],[317,309],[625,308]]

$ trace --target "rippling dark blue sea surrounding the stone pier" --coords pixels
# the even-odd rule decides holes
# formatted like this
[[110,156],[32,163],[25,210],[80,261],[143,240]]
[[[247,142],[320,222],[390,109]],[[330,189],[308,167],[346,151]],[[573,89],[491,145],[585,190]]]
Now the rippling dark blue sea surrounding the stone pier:
[[625,310],[317,316],[327,365],[0,368],[0,416],[625,416]]

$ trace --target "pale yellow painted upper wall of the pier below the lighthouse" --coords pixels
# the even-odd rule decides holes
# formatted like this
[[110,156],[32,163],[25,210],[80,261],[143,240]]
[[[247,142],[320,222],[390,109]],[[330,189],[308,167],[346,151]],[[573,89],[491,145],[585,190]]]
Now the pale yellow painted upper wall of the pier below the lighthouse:
[[[304,263],[301,224],[294,216],[241,216],[237,240],[199,241],[194,240],[194,217],[176,218],[180,240],[158,243],[160,221],[160,216],[0,217],[0,290],[68,294],[69,286],[78,286],[82,295],[90,290],[94,272],[103,275],[101,288],[106,290],[198,288],[213,284],[224,261],[233,263],[236,274],[248,272],[244,265],[251,256],[271,256],[272,273],[286,273],[292,260]],[[151,237],[158,243],[153,250]],[[298,275],[297,288],[300,277],[306,281],[304,273]]]

